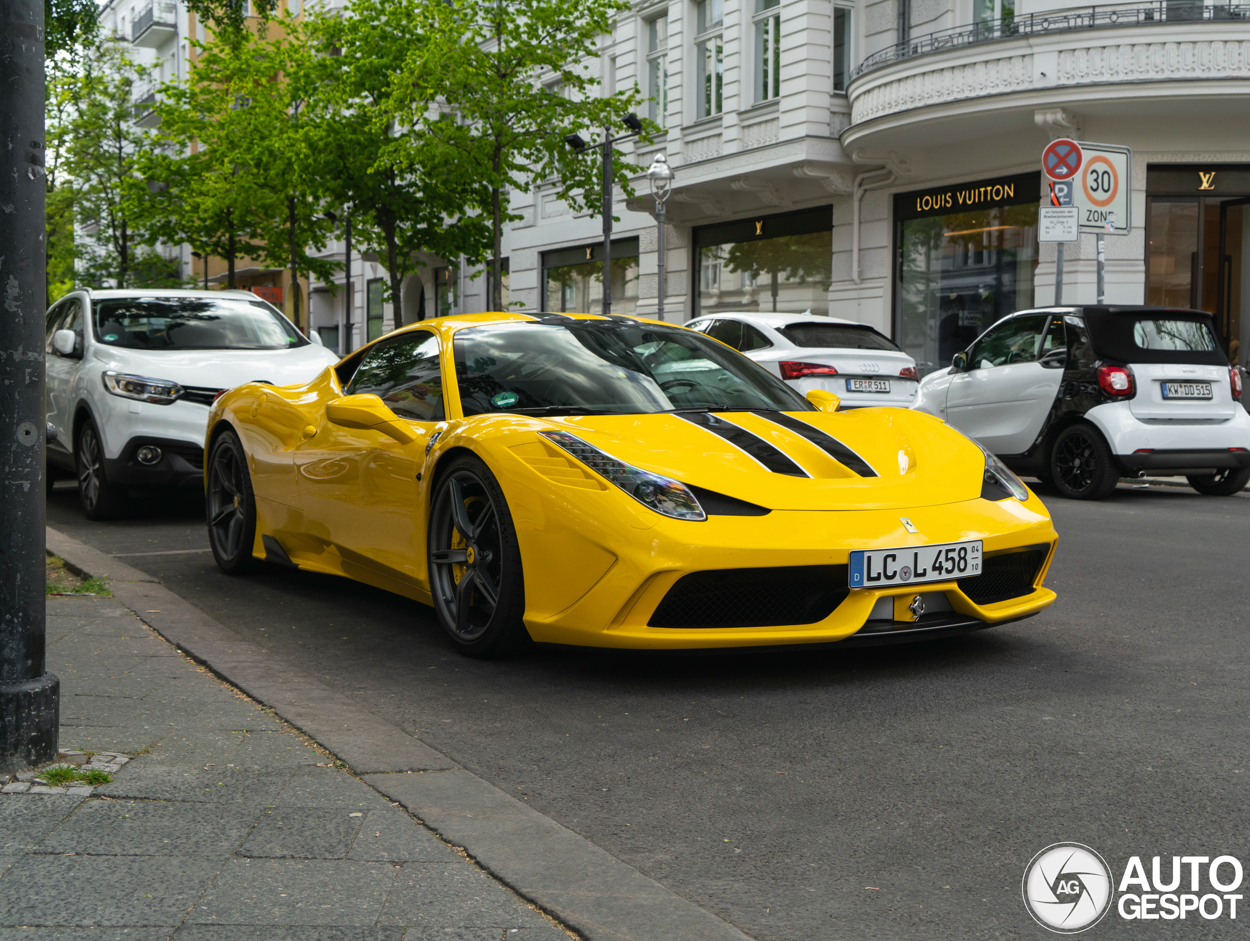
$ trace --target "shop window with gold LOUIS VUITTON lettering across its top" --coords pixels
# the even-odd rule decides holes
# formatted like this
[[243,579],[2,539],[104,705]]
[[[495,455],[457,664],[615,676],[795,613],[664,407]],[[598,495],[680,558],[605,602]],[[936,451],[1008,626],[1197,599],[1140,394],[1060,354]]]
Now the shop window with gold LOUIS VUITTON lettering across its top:
[[1034,305],[1038,180],[1025,174],[895,196],[895,340],[921,375]]

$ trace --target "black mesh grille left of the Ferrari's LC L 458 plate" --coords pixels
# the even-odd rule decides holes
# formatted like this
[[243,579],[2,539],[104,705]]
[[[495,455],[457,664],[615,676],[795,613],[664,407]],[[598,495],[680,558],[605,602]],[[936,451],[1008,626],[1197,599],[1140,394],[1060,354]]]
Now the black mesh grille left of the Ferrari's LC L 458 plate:
[[781,627],[816,624],[850,594],[845,565],[719,569],[678,579],[651,627]]

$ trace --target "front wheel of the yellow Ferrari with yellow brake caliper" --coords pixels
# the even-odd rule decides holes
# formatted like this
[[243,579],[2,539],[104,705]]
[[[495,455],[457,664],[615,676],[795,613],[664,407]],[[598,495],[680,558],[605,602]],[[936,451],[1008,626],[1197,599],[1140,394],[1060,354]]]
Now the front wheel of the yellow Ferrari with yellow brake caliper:
[[440,474],[428,550],[434,610],[461,654],[502,657],[530,645],[516,527],[478,457],[458,457]]

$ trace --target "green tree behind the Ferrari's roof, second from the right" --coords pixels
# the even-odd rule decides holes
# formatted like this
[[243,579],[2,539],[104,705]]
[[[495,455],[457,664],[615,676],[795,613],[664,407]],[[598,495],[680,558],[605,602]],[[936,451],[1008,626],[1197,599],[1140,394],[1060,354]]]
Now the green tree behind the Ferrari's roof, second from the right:
[[438,164],[384,160],[392,149],[420,146],[419,129],[396,121],[392,107],[406,50],[425,41],[420,5],[352,0],[341,11],[310,14],[308,22],[308,166],[329,202],[351,212],[361,250],[382,260],[396,312],[404,279],[419,264],[416,252],[479,261],[489,237],[486,220],[465,216],[472,187],[462,174]]

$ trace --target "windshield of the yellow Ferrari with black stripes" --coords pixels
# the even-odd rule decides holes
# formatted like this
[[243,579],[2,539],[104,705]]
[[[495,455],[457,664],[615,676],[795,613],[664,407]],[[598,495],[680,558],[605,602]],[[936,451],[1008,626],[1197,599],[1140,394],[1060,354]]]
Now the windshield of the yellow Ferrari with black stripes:
[[811,411],[762,366],[692,330],[628,320],[541,320],[460,330],[464,414]]

